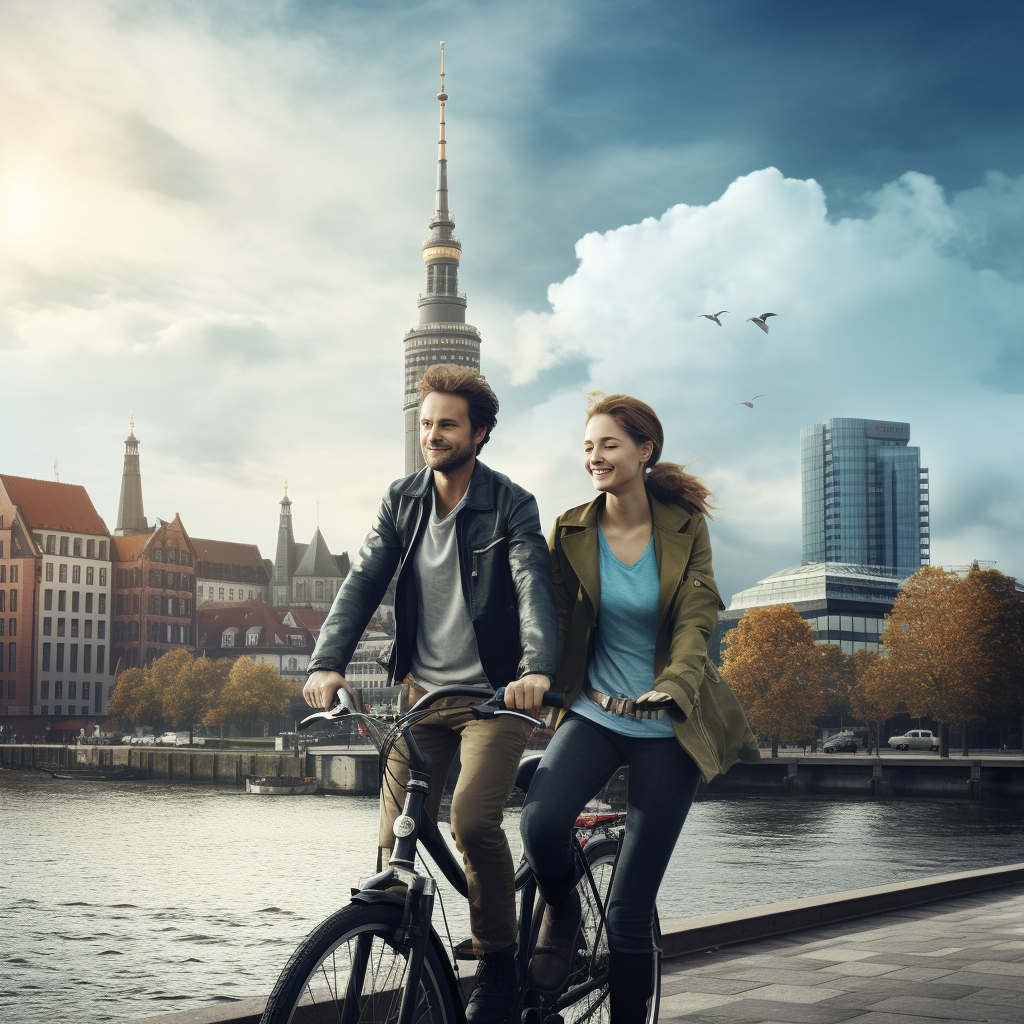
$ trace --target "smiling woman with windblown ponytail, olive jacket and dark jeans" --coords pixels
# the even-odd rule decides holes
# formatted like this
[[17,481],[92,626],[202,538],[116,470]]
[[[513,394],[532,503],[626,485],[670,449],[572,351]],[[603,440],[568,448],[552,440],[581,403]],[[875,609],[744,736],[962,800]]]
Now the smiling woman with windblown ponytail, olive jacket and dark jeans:
[[731,690],[708,660],[721,604],[705,516],[708,488],[658,464],[654,411],[625,394],[589,396],[584,467],[597,490],[551,534],[558,597],[555,735],[522,811],[526,858],[546,907],[530,983],[565,985],[580,922],[571,827],[630,765],[626,836],[608,896],[612,1024],[646,1019],[658,886],[696,793],[759,757]]

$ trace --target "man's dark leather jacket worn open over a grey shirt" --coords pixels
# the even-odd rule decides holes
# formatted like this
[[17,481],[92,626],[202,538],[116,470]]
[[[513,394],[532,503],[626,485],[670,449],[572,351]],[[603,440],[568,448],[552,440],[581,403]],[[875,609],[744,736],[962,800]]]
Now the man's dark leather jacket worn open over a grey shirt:
[[[432,487],[428,467],[388,488],[377,522],[321,629],[307,673],[344,673],[397,568],[396,636],[388,675],[392,681],[406,678],[418,621],[412,556],[432,507]],[[456,537],[462,592],[492,685],[504,686],[535,672],[553,677],[558,612],[534,496],[477,460]]]

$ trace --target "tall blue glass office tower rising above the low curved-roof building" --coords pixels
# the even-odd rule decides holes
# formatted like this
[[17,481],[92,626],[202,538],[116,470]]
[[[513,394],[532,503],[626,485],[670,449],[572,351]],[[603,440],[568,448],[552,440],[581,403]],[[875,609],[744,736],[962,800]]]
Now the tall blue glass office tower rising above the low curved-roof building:
[[910,424],[833,419],[800,431],[803,561],[930,564],[928,470]]

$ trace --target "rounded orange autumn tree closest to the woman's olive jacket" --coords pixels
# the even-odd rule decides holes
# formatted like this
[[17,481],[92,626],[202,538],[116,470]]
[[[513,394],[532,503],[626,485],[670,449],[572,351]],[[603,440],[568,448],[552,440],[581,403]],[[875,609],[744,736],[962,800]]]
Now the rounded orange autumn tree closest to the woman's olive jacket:
[[814,633],[792,604],[752,608],[725,637],[722,675],[754,731],[778,741],[814,735],[824,711],[822,659]]

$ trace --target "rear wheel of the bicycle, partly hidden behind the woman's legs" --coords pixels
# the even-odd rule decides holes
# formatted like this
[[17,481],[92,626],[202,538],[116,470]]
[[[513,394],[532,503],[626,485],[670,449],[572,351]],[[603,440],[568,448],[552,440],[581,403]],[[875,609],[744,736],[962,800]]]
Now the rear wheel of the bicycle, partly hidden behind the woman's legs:
[[[608,889],[611,884],[611,872],[618,855],[620,840],[599,839],[588,843],[584,848],[587,863],[594,877],[594,883],[600,894],[601,904],[607,907]],[[608,1000],[608,937],[601,925],[601,915],[597,909],[594,892],[590,882],[585,878],[577,886],[580,894],[582,916],[580,931],[577,935],[577,949],[573,954],[572,967],[569,971],[567,991],[585,986],[601,978],[603,983],[582,998],[561,1008],[561,1017],[565,1024],[610,1024],[611,1008]],[[662,1001],[662,933],[654,911],[654,956],[651,964],[653,972],[651,997],[647,1004],[646,1024],[656,1024]],[[596,949],[595,949],[596,946]]]

